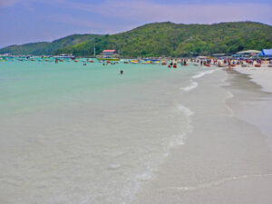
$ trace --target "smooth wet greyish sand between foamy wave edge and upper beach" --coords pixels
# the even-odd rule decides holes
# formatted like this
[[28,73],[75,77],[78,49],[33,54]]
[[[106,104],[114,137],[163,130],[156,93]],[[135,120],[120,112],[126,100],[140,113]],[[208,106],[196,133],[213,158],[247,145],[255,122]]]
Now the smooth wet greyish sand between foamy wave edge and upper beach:
[[185,145],[171,151],[155,178],[142,185],[133,203],[272,203],[267,136],[254,121],[243,120],[251,109],[236,94],[253,104],[268,96],[238,76],[220,70],[198,79],[199,88],[183,101],[195,112],[193,131]]

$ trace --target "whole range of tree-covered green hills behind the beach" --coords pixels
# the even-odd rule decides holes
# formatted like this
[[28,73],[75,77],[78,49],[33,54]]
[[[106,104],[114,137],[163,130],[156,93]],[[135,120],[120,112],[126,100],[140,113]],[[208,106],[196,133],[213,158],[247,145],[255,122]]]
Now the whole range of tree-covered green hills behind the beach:
[[272,48],[272,26],[254,22],[145,24],[121,34],[73,34],[51,43],[11,45],[0,53],[91,56],[114,49],[123,57],[196,56]]

